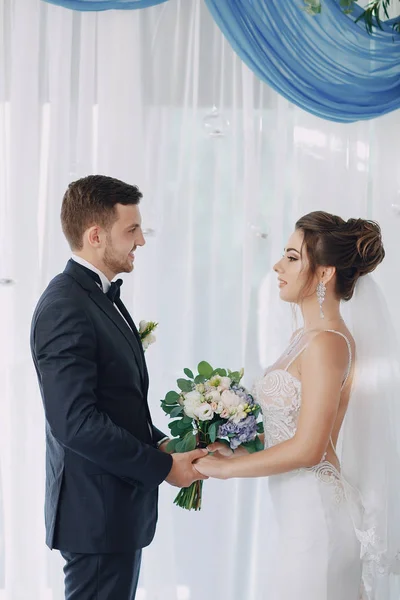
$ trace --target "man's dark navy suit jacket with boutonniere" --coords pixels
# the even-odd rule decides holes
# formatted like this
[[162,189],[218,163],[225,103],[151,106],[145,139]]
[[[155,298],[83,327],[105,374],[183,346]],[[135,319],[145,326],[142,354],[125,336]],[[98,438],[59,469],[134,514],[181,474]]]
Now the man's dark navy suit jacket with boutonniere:
[[164,434],[151,422],[147,369],[132,326],[73,260],[33,315],[50,548],[131,552],[153,539],[158,486],[172,458],[156,449]]

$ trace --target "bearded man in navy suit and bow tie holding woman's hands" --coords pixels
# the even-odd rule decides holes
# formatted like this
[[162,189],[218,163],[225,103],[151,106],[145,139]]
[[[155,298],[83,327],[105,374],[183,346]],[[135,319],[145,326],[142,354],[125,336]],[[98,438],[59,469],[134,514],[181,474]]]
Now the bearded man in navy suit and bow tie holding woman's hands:
[[73,252],[36,307],[31,348],[46,416],[46,543],[66,563],[66,600],[133,600],[153,539],[158,486],[203,476],[203,450],[168,454],[118,273],[144,246],[138,188],[102,175],[71,183],[61,221]]

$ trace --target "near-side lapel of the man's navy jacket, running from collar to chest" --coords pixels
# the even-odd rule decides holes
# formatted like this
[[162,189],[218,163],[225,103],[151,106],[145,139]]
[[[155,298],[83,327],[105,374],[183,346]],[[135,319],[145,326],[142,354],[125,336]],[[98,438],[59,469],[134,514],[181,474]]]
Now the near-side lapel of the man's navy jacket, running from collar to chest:
[[95,304],[100,308],[100,310],[102,310],[104,314],[107,315],[109,319],[111,319],[114,325],[118,327],[119,331],[125,337],[132,349],[136,363],[139,368],[142,385],[145,389],[147,389],[148,376],[143,355],[142,343],[140,341],[140,337],[136,330],[135,324],[128,311],[126,310],[125,306],[124,310],[125,313],[128,315],[127,321],[128,323],[132,323],[132,329],[129,327],[129,325],[118,312],[118,310],[115,308],[115,306],[113,306],[112,302],[110,302],[107,296],[99,288],[97,283],[91,278],[90,275],[86,273],[86,269],[84,269],[71,259],[68,261],[67,267],[64,272],[76,279],[78,283],[80,283],[80,285],[89,292],[91,300],[93,300],[93,302],[95,302]]

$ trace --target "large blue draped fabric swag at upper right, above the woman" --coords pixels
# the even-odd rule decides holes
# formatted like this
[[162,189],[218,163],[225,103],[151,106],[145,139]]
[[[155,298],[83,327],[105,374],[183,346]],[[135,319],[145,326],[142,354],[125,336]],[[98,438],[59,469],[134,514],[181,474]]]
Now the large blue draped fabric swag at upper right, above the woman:
[[301,0],[205,0],[240,58],[304,110],[339,122],[372,119],[400,107],[400,34],[392,23],[368,34],[324,0],[310,16]]

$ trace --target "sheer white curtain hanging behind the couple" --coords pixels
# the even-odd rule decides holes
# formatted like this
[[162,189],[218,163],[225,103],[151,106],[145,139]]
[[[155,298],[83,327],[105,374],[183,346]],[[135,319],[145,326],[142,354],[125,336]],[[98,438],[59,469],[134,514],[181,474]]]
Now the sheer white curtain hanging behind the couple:
[[[148,353],[159,400],[199,360],[245,367],[246,383],[285,344],[291,313],[272,265],[302,214],[378,220],[377,277],[400,332],[400,119],[338,125],[277,96],[241,63],[202,0],[74,13],[0,0],[0,600],[61,600],[44,545],[43,410],[30,319],[69,250],[68,182],[103,173],[138,184],[149,231],[123,297],[159,321]],[[371,315],[373,318],[373,316]],[[186,513],[161,488],[139,600],[266,600],[265,481],[208,481]]]

